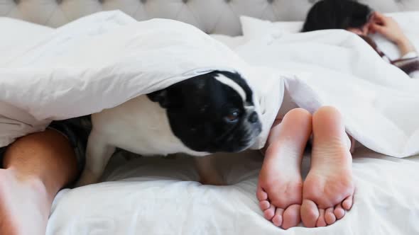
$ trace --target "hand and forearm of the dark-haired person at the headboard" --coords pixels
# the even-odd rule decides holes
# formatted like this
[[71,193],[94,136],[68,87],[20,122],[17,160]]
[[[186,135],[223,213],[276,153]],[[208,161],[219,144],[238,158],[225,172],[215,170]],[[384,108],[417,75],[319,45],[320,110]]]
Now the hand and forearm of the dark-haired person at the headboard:
[[374,13],[369,30],[370,33],[380,33],[396,44],[400,50],[401,57],[408,53],[416,52],[412,42],[410,42],[398,23],[391,17],[384,16],[378,12]]

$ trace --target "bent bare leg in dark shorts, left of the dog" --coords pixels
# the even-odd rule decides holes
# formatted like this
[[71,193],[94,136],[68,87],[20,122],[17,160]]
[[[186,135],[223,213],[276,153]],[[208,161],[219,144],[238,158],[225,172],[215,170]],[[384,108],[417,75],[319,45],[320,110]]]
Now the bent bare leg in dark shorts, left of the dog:
[[[0,115],[0,131],[10,123]],[[89,134],[83,123],[82,117],[52,122],[0,147],[0,234],[45,234],[55,195],[82,170]]]

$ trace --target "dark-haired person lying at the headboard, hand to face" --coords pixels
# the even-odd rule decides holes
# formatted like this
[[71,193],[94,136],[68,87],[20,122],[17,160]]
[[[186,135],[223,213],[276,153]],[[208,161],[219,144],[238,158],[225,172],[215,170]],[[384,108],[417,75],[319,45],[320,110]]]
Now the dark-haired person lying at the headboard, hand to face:
[[[419,57],[415,47],[404,35],[393,18],[371,10],[369,6],[352,0],[318,1],[310,11],[303,25],[303,32],[326,29],[344,29],[363,38],[387,62],[400,68],[410,77],[419,78]],[[398,46],[401,58],[391,60],[377,47],[370,33],[380,33]]]

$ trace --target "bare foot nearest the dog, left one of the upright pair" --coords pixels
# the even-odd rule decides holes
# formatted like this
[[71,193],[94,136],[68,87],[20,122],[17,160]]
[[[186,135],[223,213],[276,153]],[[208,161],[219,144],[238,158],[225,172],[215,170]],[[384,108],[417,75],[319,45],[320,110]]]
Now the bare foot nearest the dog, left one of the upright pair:
[[311,125],[308,111],[290,110],[281,124],[274,123],[266,143],[256,196],[264,217],[283,229],[300,223],[303,196],[300,167]]

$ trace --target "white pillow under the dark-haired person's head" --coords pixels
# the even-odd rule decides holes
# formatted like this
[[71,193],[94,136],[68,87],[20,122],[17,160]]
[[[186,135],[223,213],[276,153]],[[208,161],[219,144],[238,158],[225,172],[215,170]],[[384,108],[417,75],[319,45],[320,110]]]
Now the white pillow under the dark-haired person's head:
[[[419,50],[419,11],[386,13],[386,15],[393,17],[398,22],[406,36]],[[240,21],[244,38],[247,40],[254,40],[266,35],[278,37],[287,33],[300,33],[304,24],[303,21],[263,21],[249,16],[241,16]],[[398,59],[401,56],[398,47],[382,35],[371,35],[371,38],[391,59]]]

